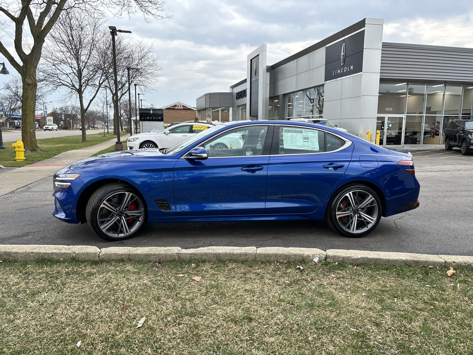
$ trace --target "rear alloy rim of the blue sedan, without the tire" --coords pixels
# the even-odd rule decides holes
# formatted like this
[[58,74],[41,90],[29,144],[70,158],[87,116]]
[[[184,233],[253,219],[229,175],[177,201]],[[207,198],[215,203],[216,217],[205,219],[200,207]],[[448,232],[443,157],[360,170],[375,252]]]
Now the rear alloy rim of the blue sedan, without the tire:
[[359,234],[373,227],[378,214],[378,204],[373,195],[363,190],[352,190],[338,201],[335,219],[344,231]]

